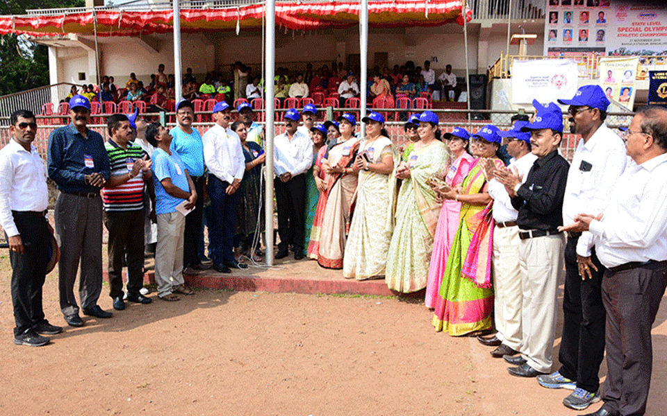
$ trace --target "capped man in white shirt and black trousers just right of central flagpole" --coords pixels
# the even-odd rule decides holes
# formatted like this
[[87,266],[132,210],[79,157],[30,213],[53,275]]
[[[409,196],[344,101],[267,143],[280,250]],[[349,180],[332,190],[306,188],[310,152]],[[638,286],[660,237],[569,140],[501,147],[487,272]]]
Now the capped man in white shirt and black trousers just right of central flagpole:
[[313,164],[313,141],[297,131],[299,112],[290,108],[285,113],[286,131],[274,139],[274,173],[278,180],[278,253],[276,259],[287,257],[289,246],[295,260],[304,258],[304,211],[306,209],[306,171]]

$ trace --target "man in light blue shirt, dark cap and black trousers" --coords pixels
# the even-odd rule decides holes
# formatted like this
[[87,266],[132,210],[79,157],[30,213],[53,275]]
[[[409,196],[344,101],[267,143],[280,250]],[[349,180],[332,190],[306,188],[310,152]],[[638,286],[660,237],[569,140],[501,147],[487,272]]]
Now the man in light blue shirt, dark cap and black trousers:
[[[179,101],[176,105],[176,121],[178,125],[172,128],[170,135],[172,139],[171,150],[178,153],[186,165],[186,170],[195,182],[197,201],[195,210],[186,216],[185,247],[183,248],[183,268],[186,275],[195,274],[195,270],[207,270],[211,268],[202,264],[197,253],[199,236],[201,234],[201,215],[204,208],[204,144],[196,128],[192,128],[195,119],[195,107],[186,99]],[[188,291],[190,289],[188,288]],[[189,293],[187,293],[189,294]]]

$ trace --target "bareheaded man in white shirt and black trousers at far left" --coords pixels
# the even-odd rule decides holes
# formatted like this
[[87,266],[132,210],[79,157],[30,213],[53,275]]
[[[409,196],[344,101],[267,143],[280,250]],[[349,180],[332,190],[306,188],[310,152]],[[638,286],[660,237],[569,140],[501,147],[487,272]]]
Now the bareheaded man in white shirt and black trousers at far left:
[[49,206],[47,168],[33,146],[35,114],[14,112],[9,132],[12,139],[0,150],[0,225],[7,234],[13,269],[14,343],[40,347],[49,343],[42,335],[63,331],[44,319],[42,309],[51,241],[51,226],[45,217]]

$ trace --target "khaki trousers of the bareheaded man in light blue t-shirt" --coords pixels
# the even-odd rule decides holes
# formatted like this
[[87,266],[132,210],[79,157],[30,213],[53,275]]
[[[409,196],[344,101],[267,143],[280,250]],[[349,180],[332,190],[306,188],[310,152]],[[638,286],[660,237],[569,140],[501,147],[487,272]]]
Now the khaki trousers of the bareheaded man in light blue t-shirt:
[[158,243],[155,248],[155,281],[158,296],[172,293],[183,284],[183,241],[186,217],[180,212],[158,214]]

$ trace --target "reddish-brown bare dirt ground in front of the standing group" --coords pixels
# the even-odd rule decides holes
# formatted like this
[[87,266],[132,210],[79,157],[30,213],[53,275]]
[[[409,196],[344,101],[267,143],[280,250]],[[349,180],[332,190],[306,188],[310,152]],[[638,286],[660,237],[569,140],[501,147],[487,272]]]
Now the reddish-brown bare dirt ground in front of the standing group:
[[[12,342],[6,250],[0,280],[0,415],[582,413],[561,404],[569,391],[510,376],[475,338],[436,333],[415,300],[197,291],[168,303],[151,293],[153,304],[83,317],[85,327],[31,348]],[[57,289],[53,272],[44,310],[63,325]],[[100,304],[112,310],[107,284]],[[648,415],[667,404],[667,298],[662,306]]]

